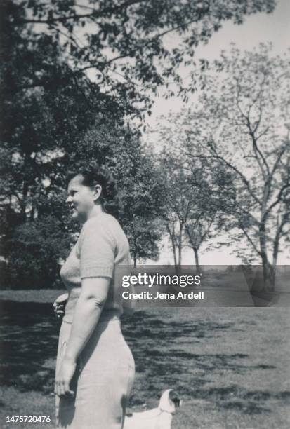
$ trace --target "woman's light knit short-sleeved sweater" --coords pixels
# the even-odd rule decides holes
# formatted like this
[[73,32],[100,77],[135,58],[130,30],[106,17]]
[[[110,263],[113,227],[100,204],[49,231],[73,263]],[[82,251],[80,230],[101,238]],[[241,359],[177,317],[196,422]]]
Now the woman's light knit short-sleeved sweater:
[[60,277],[70,292],[63,320],[72,322],[81,279],[88,277],[111,279],[100,320],[119,318],[123,313],[121,277],[128,275],[130,266],[128,240],[117,219],[105,212],[88,219],[60,270]]

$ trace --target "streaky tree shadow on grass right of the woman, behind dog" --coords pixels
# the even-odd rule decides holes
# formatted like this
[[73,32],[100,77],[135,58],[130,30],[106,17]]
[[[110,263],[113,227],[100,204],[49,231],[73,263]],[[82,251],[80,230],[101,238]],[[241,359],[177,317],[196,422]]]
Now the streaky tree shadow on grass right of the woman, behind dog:
[[[213,320],[162,320],[145,311],[134,315],[133,324],[125,325],[123,332],[133,350],[136,373],[140,383],[135,386],[132,406],[148,402],[148,397],[166,388],[175,388],[184,400],[206,400],[220,409],[233,409],[244,414],[271,412],[270,402],[290,402],[290,392],[248,391],[223,379],[221,372],[242,374],[245,379],[254,372],[270,374],[275,365],[254,362],[246,353],[192,353],[195,345],[199,350],[208,350],[208,341],[223,339],[223,335],[235,336],[249,333],[254,320],[246,320],[244,328],[237,322],[214,322]],[[142,341],[140,341],[142,339]],[[218,341],[218,340],[217,340]],[[138,346],[136,345],[138,343]],[[182,344],[182,346],[180,346]],[[204,345],[204,347],[203,347]],[[177,348],[179,346],[179,348]],[[207,347],[206,347],[207,346]],[[214,351],[214,347],[212,348]],[[220,380],[220,385],[212,387]],[[265,397],[263,397],[265,393]],[[153,404],[153,402],[152,402]]]

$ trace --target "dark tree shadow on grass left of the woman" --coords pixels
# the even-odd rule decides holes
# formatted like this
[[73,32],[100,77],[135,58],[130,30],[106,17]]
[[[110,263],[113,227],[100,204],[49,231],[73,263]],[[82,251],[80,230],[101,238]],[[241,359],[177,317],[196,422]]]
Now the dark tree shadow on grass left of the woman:
[[0,383],[53,392],[60,324],[51,304],[0,301]]

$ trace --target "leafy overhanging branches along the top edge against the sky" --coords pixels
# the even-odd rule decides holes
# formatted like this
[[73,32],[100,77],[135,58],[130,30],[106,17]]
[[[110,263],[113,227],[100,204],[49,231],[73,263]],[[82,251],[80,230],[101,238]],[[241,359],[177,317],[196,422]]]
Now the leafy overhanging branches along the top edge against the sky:
[[[2,70],[10,93],[65,84],[89,76],[100,99],[142,117],[148,93],[169,82],[186,97],[180,64],[194,64],[197,45],[206,43],[226,20],[270,13],[274,0],[4,0],[1,3]],[[168,43],[169,34],[178,42]],[[60,51],[65,64],[51,51]],[[77,86],[77,80],[76,80]],[[171,91],[171,90],[170,90]]]

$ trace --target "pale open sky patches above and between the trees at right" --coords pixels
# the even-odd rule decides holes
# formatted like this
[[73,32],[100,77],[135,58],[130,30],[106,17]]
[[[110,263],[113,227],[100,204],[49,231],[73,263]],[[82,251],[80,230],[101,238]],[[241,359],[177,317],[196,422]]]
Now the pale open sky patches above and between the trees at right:
[[[172,36],[174,37],[174,36]],[[223,28],[213,35],[209,43],[201,45],[196,50],[196,57],[204,57],[207,60],[213,60],[219,56],[221,50],[230,50],[230,43],[234,42],[236,47],[241,50],[251,50],[261,42],[272,42],[273,54],[282,54],[287,48],[290,48],[290,0],[277,0],[275,11],[270,14],[258,13],[246,17],[242,25],[233,25],[231,22],[225,22]],[[176,40],[172,40],[172,43]],[[170,43],[170,41],[169,41]],[[185,71],[185,75],[186,75]],[[184,75],[184,76],[185,76]],[[196,100],[196,95],[192,95],[190,102]],[[152,107],[152,116],[147,118],[147,127],[154,128],[157,118],[169,111],[179,111],[183,107],[180,99],[172,98],[165,100],[162,93],[154,100]],[[172,252],[166,249],[166,242],[163,243],[164,249],[160,254],[159,261],[152,264],[173,264]],[[230,254],[232,249],[225,249],[212,252],[203,252],[200,254],[200,264],[241,264],[241,261]],[[289,252],[282,252],[279,255],[278,264],[290,264]],[[147,261],[150,264],[150,261]],[[192,250],[183,251],[183,264],[194,264]]]

